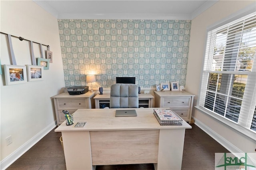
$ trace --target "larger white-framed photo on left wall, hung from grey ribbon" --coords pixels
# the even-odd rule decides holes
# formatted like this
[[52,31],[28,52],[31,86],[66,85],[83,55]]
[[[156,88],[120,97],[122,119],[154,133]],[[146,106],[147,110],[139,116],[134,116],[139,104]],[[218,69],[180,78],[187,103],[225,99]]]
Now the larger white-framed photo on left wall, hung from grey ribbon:
[[6,85],[26,83],[26,66],[4,64],[4,77]]

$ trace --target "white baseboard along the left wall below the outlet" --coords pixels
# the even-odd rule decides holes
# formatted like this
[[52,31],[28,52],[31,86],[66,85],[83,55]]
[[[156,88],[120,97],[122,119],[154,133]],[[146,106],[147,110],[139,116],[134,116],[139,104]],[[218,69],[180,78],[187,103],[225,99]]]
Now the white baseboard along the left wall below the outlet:
[[20,156],[22,156],[26,151],[28,151],[31,147],[33,147],[38,141],[40,141],[45,135],[47,135],[54,127],[56,127],[57,121],[52,122],[42,131],[40,131],[36,136],[32,137],[29,141],[24,143],[20,148],[15,150],[12,154],[4,158],[0,162],[0,169],[5,170],[10,166],[13,162],[15,162]]

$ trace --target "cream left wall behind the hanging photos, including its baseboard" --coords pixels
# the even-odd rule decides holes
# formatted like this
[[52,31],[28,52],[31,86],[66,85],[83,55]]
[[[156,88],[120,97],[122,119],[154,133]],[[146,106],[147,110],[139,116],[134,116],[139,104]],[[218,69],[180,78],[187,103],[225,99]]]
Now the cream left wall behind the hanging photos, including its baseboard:
[[[50,97],[62,92],[65,85],[57,19],[30,0],[1,0],[0,3],[1,32],[50,45],[53,52],[53,63],[49,70],[44,70],[42,81],[6,86],[4,74],[0,75],[0,160],[3,169],[55,127],[56,117]],[[11,64],[6,37],[0,34],[2,65]],[[12,37],[12,43],[17,65],[31,65],[28,41]],[[34,54],[40,57],[37,44],[34,44]],[[12,144],[6,146],[5,138],[9,135]]]

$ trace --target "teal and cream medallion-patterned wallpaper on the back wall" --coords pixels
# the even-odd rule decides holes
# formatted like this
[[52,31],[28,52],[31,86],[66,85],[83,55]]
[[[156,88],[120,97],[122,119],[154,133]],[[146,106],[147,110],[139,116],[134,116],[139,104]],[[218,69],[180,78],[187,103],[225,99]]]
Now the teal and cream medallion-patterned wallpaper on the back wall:
[[65,86],[116,83],[135,76],[142,88],[186,83],[191,21],[58,20]]

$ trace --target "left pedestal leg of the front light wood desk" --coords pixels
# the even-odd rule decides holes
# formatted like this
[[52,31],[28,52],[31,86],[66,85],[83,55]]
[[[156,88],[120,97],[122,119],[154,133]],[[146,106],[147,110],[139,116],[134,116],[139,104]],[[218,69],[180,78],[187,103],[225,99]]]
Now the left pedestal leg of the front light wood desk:
[[93,170],[90,132],[62,132],[67,170]]

